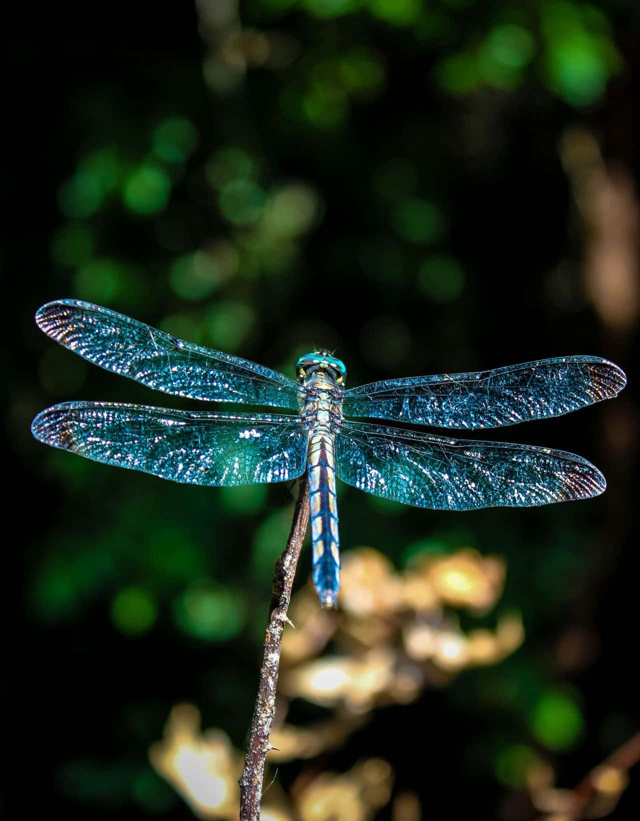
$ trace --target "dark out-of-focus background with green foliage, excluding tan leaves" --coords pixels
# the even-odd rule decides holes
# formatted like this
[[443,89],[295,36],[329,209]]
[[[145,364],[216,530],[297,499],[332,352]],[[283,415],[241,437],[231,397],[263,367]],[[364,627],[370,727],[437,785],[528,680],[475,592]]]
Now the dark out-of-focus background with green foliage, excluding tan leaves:
[[[237,502],[32,440],[56,401],[169,404],[39,333],[35,310],[66,296],[288,375],[335,348],[350,385],[566,354],[622,366],[619,399],[495,437],[580,453],[602,498],[447,514],[343,493],[345,552],[402,567],[432,539],[505,557],[500,606],[523,613],[526,640],[376,711],[317,767],[376,754],[424,817],[526,819],[501,751],[539,751],[572,787],[637,732],[639,34],[633,2],[507,0],[112,3],[8,26],[5,550],[24,585],[5,622],[20,690],[7,807],[190,817],[147,749],[182,700],[242,748],[293,493]],[[198,249],[218,266],[204,279]],[[299,585],[308,567],[305,552]],[[202,578],[237,623],[203,634],[181,617]],[[582,729],[548,750],[531,715],[557,690]],[[285,787],[298,766],[280,768]],[[613,817],[638,805],[632,771]]]

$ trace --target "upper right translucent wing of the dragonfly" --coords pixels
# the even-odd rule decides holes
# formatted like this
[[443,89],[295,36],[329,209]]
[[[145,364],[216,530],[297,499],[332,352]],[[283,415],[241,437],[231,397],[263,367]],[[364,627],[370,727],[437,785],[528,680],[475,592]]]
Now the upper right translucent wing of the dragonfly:
[[473,374],[389,379],[344,393],[346,416],[402,420],[439,428],[499,428],[571,413],[610,399],[627,383],[597,356],[564,356]]

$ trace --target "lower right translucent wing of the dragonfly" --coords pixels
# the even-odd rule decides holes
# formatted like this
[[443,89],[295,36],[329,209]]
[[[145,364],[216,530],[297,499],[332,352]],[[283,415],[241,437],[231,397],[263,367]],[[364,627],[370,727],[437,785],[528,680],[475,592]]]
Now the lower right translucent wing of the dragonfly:
[[337,434],[335,459],[343,482],[433,510],[532,507],[598,496],[606,487],[601,472],[573,453],[359,422]]

